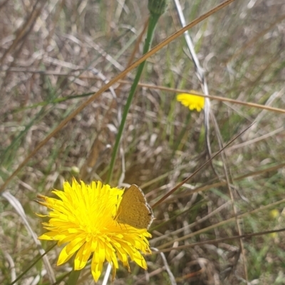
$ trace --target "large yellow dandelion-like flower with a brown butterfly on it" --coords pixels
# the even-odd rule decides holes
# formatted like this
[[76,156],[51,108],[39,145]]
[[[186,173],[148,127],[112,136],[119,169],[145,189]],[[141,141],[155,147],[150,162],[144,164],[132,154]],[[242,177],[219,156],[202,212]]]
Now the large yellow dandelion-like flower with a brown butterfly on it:
[[[143,269],[147,269],[143,254],[151,253],[147,229],[136,229],[128,224],[119,224],[115,219],[118,202],[123,190],[92,182],[72,185],[63,183],[63,191],[53,190],[60,199],[38,195],[38,201],[51,212],[49,221],[43,222],[46,234],[38,239],[58,241],[66,244],[59,254],[57,265],[61,265],[76,254],[74,269],[81,270],[93,254],[91,271],[98,281],[103,263],[113,266],[113,278],[118,269],[118,259],[130,271],[128,257]],[[38,214],[38,216],[41,216]],[[142,253],[141,253],[142,252]],[[118,259],[117,259],[118,257]]]

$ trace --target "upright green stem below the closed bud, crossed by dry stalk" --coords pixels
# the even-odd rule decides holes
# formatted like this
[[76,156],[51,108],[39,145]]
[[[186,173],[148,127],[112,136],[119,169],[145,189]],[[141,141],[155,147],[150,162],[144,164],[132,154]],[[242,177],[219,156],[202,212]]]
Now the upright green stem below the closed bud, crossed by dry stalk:
[[[145,46],[143,47],[143,54],[147,53],[147,51],[150,50],[150,45],[152,43],[152,38],[153,38],[154,31],[155,31],[155,26],[156,26],[159,18],[160,18],[159,14],[150,14],[150,20],[148,22],[148,28],[147,28],[147,38],[145,39]],[[117,157],[117,153],[118,153],[118,149],[119,149],[119,145],[120,145],[120,140],[121,140],[122,135],[123,135],[123,130],[125,127],[125,121],[127,119],[127,115],[129,113],[129,110],[130,110],[130,105],[133,101],[133,97],[135,95],[135,90],[138,87],[138,83],[140,81],[140,76],[142,75],[142,71],[143,71],[144,67],[145,67],[145,61],[140,63],[140,65],[138,66],[138,71],[137,71],[137,74],[135,76],[135,80],[133,82],[132,87],[130,88],[128,100],[127,100],[127,103],[125,104],[125,108],[124,108],[123,116],[122,116],[122,121],[120,122],[118,135],[116,136],[115,145],[114,145],[113,152],[112,152],[110,168],[109,168],[108,177],[107,177],[107,183],[108,184],[112,180],[113,170],[114,170],[114,166],[115,166],[115,159]]]

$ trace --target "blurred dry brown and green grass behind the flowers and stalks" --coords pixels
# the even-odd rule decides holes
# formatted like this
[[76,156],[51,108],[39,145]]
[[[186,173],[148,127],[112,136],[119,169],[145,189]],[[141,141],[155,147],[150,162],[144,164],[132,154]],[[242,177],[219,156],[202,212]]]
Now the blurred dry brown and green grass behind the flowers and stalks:
[[[183,1],[187,23],[219,3]],[[1,184],[58,123],[128,66],[148,14],[146,1],[0,2]],[[283,1],[239,0],[192,28],[190,35],[209,93],[285,109],[284,25]],[[175,6],[170,2],[153,45],[179,28]],[[141,56],[142,44],[135,59]],[[187,53],[182,36],[172,41],[147,60],[141,83],[201,91]],[[134,76],[135,71],[129,73],[125,78],[128,83],[117,83],[114,90],[103,93],[73,118],[6,188],[24,207],[36,234],[43,231],[41,220],[34,214],[42,211],[33,202],[38,193],[50,195],[51,188],[61,189],[63,180],[70,181],[73,176],[85,182],[105,180]],[[226,151],[237,213],[284,199],[284,115],[217,100],[211,103],[224,142],[256,122]],[[118,185],[123,172],[123,182],[140,185],[154,204],[197,170],[207,160],[203,114],[192,112],[185,125],[188,114],[189,110],[175,100],[175,93],[138,88],[112,184]],[[177,141],[184,130],[185,135]],[[219,150],[212,122],[210,141],[212,152]],[[155,208],[152,247],[238,234],[237,224],[231,222],[176,242],[190,232],[234,217],[227,185],[216,183],[224,181],[223,165],[222,157],[217,157],[213,161],[216,173],[204,167],[189,184]],[[242,175],[244,178],[238,178]],[[191,189],[206,185],[190,195]],[[242,233],[283,227],[283,208],[284,204],[278,204],[243,217],[239,220]],[[19,276],[38,256],[38,250],[21,217],[4,197],[0,214],[0,283],[11,284],[13,272]],[[245,284],[244,267],[251,284],[285,284],[283,239],[283,233],[244,239],[244,254],[239,254],[235,240],[173,249],[166,258],[177,284]],[[43,242],[44,248],[50,245]],[[71,269],[72,263],[56,267],[58,252],[60,249],[53,249],[48,259],[59,277]],[[135,264],[131,264],[132,274],[122,266],[114,284],[170,284],[160,255],[146,259],[149,275]],[[39,261],[19,284],[47,284],[43,269]],[[43,277],[35,281],[41,274]],[[83,271],[81,284],[92,284],[90,269]]]

